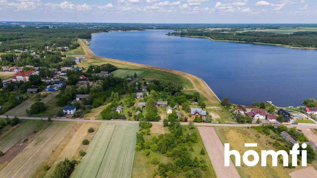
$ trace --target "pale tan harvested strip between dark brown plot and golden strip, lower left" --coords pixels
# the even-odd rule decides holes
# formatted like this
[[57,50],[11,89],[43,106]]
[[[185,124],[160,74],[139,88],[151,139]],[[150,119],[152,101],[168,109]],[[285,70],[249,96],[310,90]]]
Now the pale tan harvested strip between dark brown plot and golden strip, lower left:
[[31,177],[74,125],[53,122],[0,171],[0,177]]

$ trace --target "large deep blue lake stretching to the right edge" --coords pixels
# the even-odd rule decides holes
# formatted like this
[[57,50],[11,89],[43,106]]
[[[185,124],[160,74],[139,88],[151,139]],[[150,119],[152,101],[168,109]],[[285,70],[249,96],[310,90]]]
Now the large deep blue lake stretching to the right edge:
[[191,73],[232,103],[298,106],[317,98],[317,50],[167,36],[170,30],[94,34],[97,56]]

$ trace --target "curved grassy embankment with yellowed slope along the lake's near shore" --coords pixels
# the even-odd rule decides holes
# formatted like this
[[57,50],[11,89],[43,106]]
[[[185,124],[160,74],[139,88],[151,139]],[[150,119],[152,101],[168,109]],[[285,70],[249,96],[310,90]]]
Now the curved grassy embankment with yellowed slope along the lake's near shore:
[[[137,73],[139,77],[139,81],[150,81],[152,79],[157,79],[160,81],[163,80],[172,80],[175,83],[182,85],[185,89],[184,91],[197,91],[201,94],[201,98],[205,99],[207,107],[210,107],[211,112],[215,112],[217,116],[217,120],[215,121],[229,121],[232,122],[233,119],[230,117],[230,114],[220,105],[219,99],[217,96],[209,89],[209,87],[204,83],[202,79],[198,77],[180,72],[171,69],[164,69],[160,67],[152,67],[132,62],[126,62],[121,60],[114,60],[109,58],[103,58],[99,56],[95,56],[92,51],[87,47],[87,41],[83,39],[79,39],[80,47],[83,52],[85,59],[83,62],[77,63],[79,67],[87,68],[90,65],[102,65],[102,64],[113,64],[118,67],[117,71],[114,71],[113,74],[118,77],[126,77],[127,75],[133,75]],[[77,48],[78,49],[78,48]],[[75,49],[75,50],[77,50]],[[64,53],[65,54],[65,53]],[[74,54],[74,50],[68,51],[68,54]],[[99,108],[95,108],[92,111],[100,112],[101,108],[105,108],[105,106],[100,106]],[[95,111],[94,111],[95,110]],[[92,115],[92,114],[90,114]],[[89,118],[87,118],[89,119]]]

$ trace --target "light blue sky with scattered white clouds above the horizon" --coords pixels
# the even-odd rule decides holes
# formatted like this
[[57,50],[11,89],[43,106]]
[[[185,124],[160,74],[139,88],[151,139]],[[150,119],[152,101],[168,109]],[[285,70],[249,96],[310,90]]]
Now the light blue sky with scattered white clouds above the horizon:
[[0,0],[0,21],[317,23],[316,0]]

